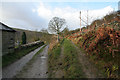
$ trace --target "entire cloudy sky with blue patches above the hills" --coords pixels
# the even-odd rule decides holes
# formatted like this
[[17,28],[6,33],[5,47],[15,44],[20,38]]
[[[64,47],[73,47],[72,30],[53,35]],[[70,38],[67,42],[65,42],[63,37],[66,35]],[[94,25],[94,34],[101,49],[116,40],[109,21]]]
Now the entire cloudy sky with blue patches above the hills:
[[[86,20],[87,10],[89,24],[92,20],[102,18],[106,14],[118,9],[118,1],[101,0],[69,0],[64,1],[38,1],[38,0],[4,0],[0,2],[0,21],[13,28],[38,30],[48,27],[52,17],[66,19],[70,30],[80,27],[79,12],[82,19]],[[82,22],[82,26],[85,24]]]

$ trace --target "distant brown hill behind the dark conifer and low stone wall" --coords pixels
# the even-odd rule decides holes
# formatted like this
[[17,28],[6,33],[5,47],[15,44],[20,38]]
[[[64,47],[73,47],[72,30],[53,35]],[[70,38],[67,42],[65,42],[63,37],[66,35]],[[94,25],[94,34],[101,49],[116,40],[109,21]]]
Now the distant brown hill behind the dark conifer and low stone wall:
[[13,28],[13,29],[16,30],[15,42],[22,41],[22,33],[23,32],[26,33],[27,43],[34,42],[37,40],[46,41],[49,43],[50,38],[52,36],[52,34],[42,33],[42,32],[37,32],[37,31],[23,30],[23,29],[17,29],[17,28]]

